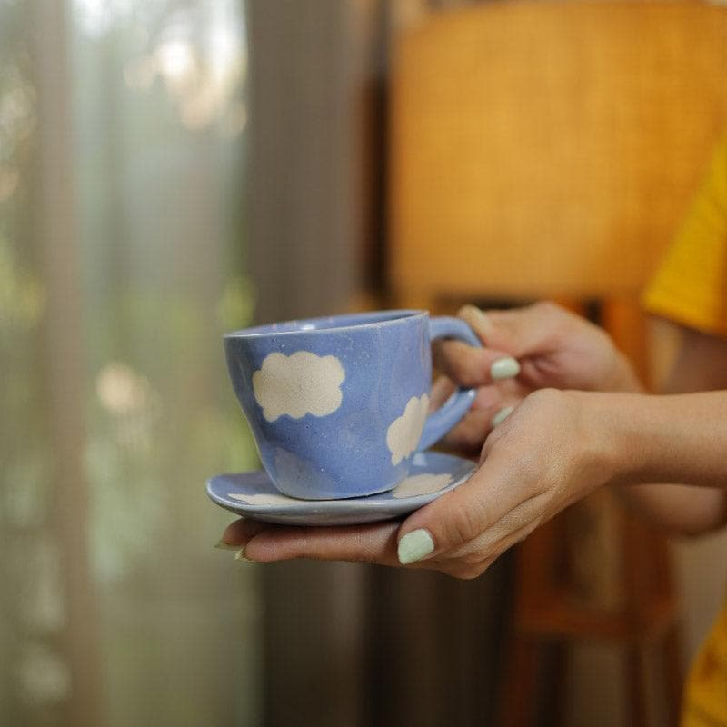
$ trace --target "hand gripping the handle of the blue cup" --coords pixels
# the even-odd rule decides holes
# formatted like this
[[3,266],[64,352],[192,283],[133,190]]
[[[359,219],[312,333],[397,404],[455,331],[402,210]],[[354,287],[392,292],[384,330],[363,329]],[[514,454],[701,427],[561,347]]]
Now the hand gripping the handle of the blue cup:
[[493,425],[536,389],[641,390],[628,359],[603,329],[556,304],[487,313],[465,305],[459,315],[485,347],[458,341],[434,344],[434,364],[445,375],[433,385],[433,408],[455,385],[479,389],[470,412],[444,437],[446,449],[479,453]]

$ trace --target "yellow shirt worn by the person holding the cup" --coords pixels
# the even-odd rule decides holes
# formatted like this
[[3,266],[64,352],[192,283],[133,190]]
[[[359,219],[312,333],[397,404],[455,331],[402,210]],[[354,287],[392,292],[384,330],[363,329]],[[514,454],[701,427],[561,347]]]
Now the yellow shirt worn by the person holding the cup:
[[[653,314],[727,336],[727,137],[643,304]],[[692,664],[681,724],[727,727],[727,603]]]

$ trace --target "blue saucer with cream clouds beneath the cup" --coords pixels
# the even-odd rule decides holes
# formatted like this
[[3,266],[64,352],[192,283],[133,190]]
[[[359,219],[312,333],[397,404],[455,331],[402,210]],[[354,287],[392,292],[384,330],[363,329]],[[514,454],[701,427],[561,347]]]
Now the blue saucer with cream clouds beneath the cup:
[[238,515],[282,525],[354,525],[412,513],[466,482],[476,469],[462,457],[438,452],[413,456],[409,476],[388,493],[346,500],[296,500],[275,489],[265,472],[218,474],[210,499]]

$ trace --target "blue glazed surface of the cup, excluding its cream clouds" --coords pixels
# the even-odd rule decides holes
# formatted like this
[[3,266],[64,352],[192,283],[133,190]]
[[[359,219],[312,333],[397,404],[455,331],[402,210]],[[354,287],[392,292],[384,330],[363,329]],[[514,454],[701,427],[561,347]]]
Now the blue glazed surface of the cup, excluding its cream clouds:
[[[409,472],[413,452],[394,463],[386,436],[412,398],[429,393],[430,342],[460,338],[479,345],[456,318],[423,311],[383,311],[291,321],[224,336],[234,392],[254,433],[261,460],[275,486],[291,497],[328,500],[393,489]],[[287,413],[268,421],[253,387],[270,354],[308,352],[334,356],[344,368],[342,401],[332,413]],[[301,386],[305,386],[304,381]],[[473,390],[454,393],[431,414],[416,449],[443,436],[466,413]]]

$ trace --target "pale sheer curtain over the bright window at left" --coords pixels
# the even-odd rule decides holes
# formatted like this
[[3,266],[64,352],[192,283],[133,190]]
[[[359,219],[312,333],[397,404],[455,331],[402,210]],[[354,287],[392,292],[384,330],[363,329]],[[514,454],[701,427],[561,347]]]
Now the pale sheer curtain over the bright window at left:
[[257,573],[204,479],[255,466],[244,8],[0,0],[0,722],[260,715]]

